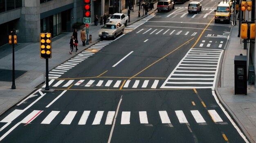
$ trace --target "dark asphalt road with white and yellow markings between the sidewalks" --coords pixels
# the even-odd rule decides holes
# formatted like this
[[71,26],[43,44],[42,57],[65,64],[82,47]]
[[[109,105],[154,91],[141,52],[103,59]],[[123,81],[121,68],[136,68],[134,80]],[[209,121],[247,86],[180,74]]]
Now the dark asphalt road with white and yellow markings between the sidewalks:
[[214,1],[196,15],[187,4],[53,69],[53,92],[2,115],[0,142],[245,142],[212,92],[231,25],[214,24]]

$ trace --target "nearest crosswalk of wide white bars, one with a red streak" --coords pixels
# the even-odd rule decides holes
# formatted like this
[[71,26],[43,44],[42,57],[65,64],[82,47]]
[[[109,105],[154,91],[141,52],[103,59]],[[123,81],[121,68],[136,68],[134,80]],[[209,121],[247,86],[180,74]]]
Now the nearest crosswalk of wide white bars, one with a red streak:
[[[15,115],[15,113],[19,113],[21,110],[14,110],[12,113],[7,115],[0,122],[2,123],[11,123],[13,121],[17,121],[16,118],[20,115]],[[202,112],[202,111],[201,111]],[[198,110],[191,110],[188,112],[184,112],[182,110],[174,111],[175,116],[171,113],[171,111],[158,111],[158,112],[147,112],[147,111],[122,111],[121,119],[118,119],[115,124],[120,125],[128,125],[130,123],[130,119],[134,118],[137,124],[158,124],[160,121],[162,124],[171,124],[172,122],[179,121],[179,124],[189,124],[189,123],[198,123],[199,125],[207,124],[207,117],[202,115]],[[31,111],[24,119],[21,120],[20,123],[25,125],[27,124],[62,124],[62,125],[112,125],[115,117],[115,111],[40,111],[34,110]],[[151,119],[148,117],[154,117]],[[222,118],[217,113],[216,110],[208,110],[208,114],[210,115],[212,121],[214,123],[223,123]],[[171,116],[172,115],[172,116]],[[187,117],[193,118],[187,118]],[[203,117],[204,116],[204,117]],[[155,119],[155,117],[158,117]],[[209,121],[209,120],[208,120]],[[135,124],[135,122],[133,122]],[[175,126],[171,126],[175,127]],[[3,128],[3,127],[2,127]]]

